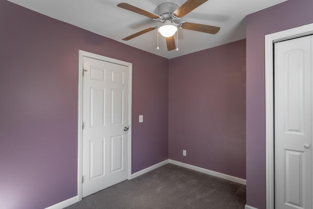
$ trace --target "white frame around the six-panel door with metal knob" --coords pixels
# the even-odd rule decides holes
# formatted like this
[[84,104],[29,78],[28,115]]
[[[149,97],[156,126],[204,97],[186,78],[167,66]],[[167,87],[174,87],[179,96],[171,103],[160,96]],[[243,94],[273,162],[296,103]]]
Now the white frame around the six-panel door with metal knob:
[[103,60],[118,65],[128,67],[129,72],[129,94],[128,94],[128,179],[132,178],[132,63],[121,60],[112,59],[98,54],[93,54],[87,51],[79,50],[79,67],[78,67],[78,164],[77,164],[77,196],[79,201],[82,200],[82,126],[83,126],[83,57]]

